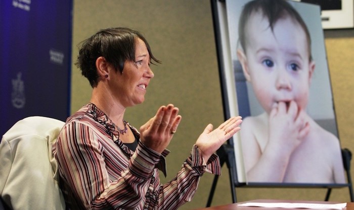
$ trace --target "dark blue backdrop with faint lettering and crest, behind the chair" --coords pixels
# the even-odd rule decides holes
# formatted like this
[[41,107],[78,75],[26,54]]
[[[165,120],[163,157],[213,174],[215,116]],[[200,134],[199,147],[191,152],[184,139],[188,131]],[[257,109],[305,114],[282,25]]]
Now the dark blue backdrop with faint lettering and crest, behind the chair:
[[0,134],[69,115],[72,0],[0,1]]

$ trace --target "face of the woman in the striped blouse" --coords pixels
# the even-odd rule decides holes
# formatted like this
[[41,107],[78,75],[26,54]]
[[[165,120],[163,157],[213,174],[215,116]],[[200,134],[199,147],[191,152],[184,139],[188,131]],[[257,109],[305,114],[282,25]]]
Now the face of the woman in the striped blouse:
[[143,103],[146,89],[154,73],[150,68],[150,55],[143,40],[137,38],[135,46],[135,61],[126,60],[123,72],[111,71],[110,89],[114,97],[124,107]]

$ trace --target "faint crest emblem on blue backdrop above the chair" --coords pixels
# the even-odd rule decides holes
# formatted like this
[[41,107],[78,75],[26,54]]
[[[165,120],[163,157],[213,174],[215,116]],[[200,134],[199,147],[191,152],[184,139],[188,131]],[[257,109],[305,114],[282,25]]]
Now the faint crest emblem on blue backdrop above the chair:
[[17,79],[12,80],[11,102],[15,108],[21,109],[25,106],[25,84],[21,79],[22,73],[17,73]]

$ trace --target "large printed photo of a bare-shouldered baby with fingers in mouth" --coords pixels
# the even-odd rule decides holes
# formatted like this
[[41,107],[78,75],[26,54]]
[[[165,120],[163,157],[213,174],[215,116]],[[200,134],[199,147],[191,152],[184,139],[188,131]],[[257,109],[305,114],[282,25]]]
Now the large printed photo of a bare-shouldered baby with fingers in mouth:
[[319,7],[227,0],[226,12],[237,172],[248,183],[346,183]]

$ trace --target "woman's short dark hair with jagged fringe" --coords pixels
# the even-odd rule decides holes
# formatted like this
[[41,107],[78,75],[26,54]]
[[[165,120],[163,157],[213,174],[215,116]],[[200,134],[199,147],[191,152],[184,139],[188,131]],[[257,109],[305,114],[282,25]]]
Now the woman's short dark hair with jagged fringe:
[[91,87],[96,87],[99,78],[96,69],[97,58],[104,57],[107,62],[113,64],[116,71],[122,73],[126,60],[135,61],[137,38],[145,42],[150,59],[161,63],[154,57],[149,43],[139,31],[119,27],[100,30],[90,38],[83,40],[80,43],[75,65],[81,69],[81,74],[89,80]]

